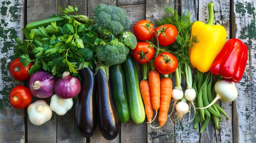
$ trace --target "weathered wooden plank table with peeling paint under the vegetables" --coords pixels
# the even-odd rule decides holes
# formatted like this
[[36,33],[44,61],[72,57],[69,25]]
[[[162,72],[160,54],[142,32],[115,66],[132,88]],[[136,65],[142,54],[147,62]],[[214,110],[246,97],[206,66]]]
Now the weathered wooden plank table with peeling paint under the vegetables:
[[[9,104],[9,91],[16,86],[9,73],[9,64],[15,59],[15,38],[23,38],[22,28],[29,22],[59,13],[57,7],[77,5],[79,13],[93,18],[93,7],[99,3],[111,4],[126,10],[130,30],[139,20],[155,21],[163,15],[163,7],[173,7],[179,13],[190,11],[191,20],[207,22],[207,4],[214,2],[214,24],[227,30],[227,39],[239,38],[248,45],[249,57],[243,79],[236,84],[238,98],[232,103],[218,102],[229,120],[220,122],[220,130],[211,122],[202,134],[193,130],[188,115],[182,123],[167,121],[162,128],[152,129],[132,121],[122,123],[116,139],[107,141],[99,129],[90,139],[74,129],[74,109],[64,116],[53,114],[43,125],[32,125],[27,110],[16,110]],[[255,143],[256,142],[256,1],[255,0],[2,0],[0,3],[0,143]],[[141,67],[138,64],[139,80]],[[173,80],[175,81],[175,80]],[[49,103],[49,99],[45,99]],[[193,116],[193,115],[191,115]],[[225,119],[223,117],[223,119]]]

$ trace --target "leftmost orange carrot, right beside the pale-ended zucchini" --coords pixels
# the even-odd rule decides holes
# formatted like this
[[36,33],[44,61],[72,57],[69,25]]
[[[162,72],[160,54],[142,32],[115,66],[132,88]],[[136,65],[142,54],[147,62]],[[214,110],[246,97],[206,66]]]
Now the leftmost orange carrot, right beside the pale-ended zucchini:
[[153,107],[151,103],[151,94],[150,94],[148,80],[140,81],[139,88],[140,88],[141,96],[144,102],[145,112],[147,115],[148,122],[151,122],[153,117]]

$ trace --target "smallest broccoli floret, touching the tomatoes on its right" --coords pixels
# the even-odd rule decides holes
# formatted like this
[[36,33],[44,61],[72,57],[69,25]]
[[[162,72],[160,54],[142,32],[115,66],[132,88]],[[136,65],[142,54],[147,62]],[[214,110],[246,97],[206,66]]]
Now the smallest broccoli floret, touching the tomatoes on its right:
[[129,31],[122,33],[121,37],[119,38],[119,42],[124,43],[124,45],[130,47],[132,50],[137,46],[137,39],[135,35]]

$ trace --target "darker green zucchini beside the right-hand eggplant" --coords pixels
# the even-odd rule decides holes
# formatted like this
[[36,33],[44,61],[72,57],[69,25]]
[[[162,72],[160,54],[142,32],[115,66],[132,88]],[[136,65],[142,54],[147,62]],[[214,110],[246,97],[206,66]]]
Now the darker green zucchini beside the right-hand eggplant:
[[109,75],[112,90],[112,98],[117,109],[118,118],[121,121],[121,123],[126,123],[130,120],[130,112],[126,96],[124,72],[121,64],[110,66]]

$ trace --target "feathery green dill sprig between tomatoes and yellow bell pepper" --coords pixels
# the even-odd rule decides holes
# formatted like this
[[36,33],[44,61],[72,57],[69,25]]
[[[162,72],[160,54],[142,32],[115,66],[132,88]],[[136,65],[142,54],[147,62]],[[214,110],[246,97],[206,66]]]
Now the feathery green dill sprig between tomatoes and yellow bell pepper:
[[[164,12],[170,16],[157,20],[156,25],[172,24],[177,28],[178,35],[176,36],[176,41],[167,48],[177,58],[179,62],[178,68],[182,69],[185,64],[190,65],[189,48],[192,48],[193,44],[199,42],[196,35],[192,35],[191,38],[191,27],[194,22],[190,21],[189,12],[182,13],[179,16],[177,11],[170,7],[165,7]],[[184,70],[182,70],[182,73],[184,73]]]

